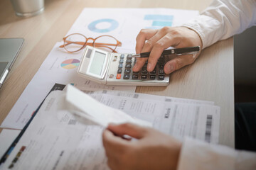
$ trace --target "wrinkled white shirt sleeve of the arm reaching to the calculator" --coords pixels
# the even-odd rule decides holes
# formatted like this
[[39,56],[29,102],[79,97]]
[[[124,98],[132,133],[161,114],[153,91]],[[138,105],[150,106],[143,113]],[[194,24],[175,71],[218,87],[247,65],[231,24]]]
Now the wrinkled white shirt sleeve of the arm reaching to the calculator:
[[183,26],[196,31],[206,48],[256,26],[256,0],[215,0]]

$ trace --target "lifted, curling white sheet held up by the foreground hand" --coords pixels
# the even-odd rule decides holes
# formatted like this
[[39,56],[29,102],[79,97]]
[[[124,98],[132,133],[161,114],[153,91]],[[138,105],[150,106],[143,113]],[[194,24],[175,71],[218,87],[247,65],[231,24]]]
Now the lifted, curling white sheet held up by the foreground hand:
[[71,85],[68,85],[67,93],[65,94],[64,108],[67,108],[70,113],[73,113],[82,122],[88,123],[90,121],[105,128],[110,123],[134,123],[152,126],[149,122],[132,118],[116,108],[111,108],[96,101]]

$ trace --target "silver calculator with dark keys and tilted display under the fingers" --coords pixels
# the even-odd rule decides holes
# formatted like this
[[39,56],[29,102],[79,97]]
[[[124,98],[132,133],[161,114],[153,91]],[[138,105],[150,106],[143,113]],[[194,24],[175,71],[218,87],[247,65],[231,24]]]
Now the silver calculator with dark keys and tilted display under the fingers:
[[167,86],[169,74],[164,74],[165,57],[161,56],[152,72],[146,70],[147,62],[139,72],[132,72],[137,58],[132,54],[107,52],[86,46],[78,67],[85,79],[111,86]]

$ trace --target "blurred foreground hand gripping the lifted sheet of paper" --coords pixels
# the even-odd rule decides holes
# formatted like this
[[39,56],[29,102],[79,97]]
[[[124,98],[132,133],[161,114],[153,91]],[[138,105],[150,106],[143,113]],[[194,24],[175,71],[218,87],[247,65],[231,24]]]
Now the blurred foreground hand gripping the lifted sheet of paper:
[[[125,140],[124,135],[137,140]],[[181,142],[152,128],[110,124],[102,138],[112,170],[176,169],[178,164]]]

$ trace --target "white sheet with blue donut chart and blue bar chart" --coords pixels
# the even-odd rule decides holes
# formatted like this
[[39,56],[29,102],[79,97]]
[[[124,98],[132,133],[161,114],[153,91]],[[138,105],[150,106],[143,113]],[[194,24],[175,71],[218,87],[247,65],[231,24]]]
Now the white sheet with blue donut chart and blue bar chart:
[[198,11],[171,8],[84,8],[67,35],[112,35],[122,42],[117,52],[135,53],[136,37],[143,28],[181,26],[197,15]]

